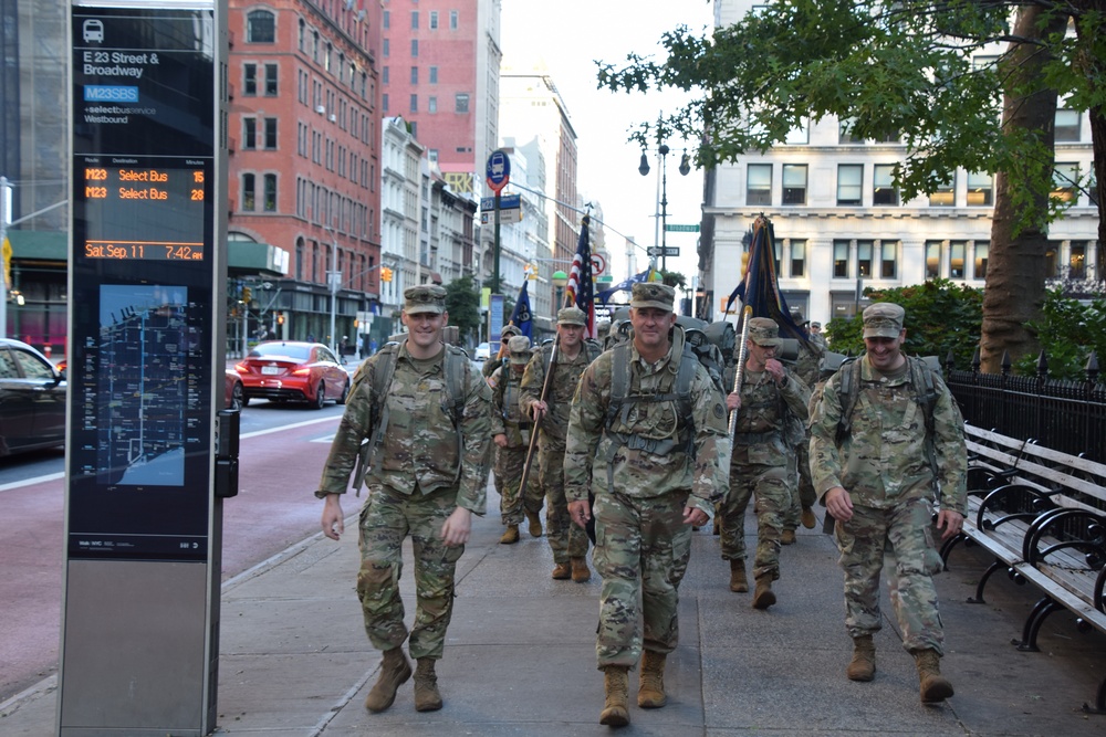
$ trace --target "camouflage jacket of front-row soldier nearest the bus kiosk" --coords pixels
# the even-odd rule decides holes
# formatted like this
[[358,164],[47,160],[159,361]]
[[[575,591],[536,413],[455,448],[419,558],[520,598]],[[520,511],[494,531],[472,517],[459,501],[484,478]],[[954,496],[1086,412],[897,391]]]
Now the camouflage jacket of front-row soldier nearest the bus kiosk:
[[[428,361],[410,358],[406,341],[399,347],[392,386],[382,400],[388,404],[387,432],[379,441],[376,462],[365,481],[368,485],[383,484],[407,495],[414,493],[416,484],[424,493],[456,485],[457,506],[483,514],[488,482],[486,459],[491,440],[491,389],[472,370],[471,364],[463,361],[465,407],[460,424],[465,445],[462,457],[458,459],[457,432],[447,409],[446,350],[451,348],[446,346],[438,359],[427,367]],[[373,435],[373,371],[385,369],[386,361],[378,360],[382,356],[377,354],[365,359],[354,376],[316,496],[346,491],[361,443]]]

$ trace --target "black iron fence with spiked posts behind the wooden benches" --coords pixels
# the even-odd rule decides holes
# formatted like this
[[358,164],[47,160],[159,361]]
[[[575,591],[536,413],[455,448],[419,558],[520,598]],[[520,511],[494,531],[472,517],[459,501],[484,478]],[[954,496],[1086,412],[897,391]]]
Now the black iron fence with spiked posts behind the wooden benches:
[[971,424],[1106,463],[1106,385],[1097,357],[1091,355],[1081,381],[1050,379],[1044,357],[1039,367],[1035,377],[1011,375],[1009,361],[1002,373],[980,373],[977,354],[970,370],[946,365],[945,380]]

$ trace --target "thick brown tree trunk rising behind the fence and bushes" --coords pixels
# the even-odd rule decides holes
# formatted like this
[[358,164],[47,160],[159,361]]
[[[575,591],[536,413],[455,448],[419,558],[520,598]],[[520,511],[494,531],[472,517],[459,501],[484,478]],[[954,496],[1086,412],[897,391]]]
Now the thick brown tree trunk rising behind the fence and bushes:
[[[1063,31],[1067,19],[1060,13],[1045,28],[1037,28],[1044,13],[1041,8],[1022,6],[1018,11],[1014,35],[1042,39]],[[1006,136],[1036,136],[1052,151],[1055,144],[1056,92],[1039,90],[1027,95],[1014,92],[1033,88],[1031,81],[1041,77],[1046,61],[1040,45],[1011,45],[1009,56],[1000,69],[1000,73],[1011,81],[1003,97],[1002,127]],[[991,252],[987,264],[980,339],[981,370],[984,372],[998,373],[1005,352],[1010,354],[1011,361],[1015,361],[1039,350],[1036,338],[1025,324],[1041,316],[1044,302],[1044,256],[1047,246],[1044,213],[1052,186],[1051,177],[1046,181],[1042,179],[1021,182],[1029,188],[1032,207],[1041,215],[1034,224],[1015,234],[1020,213],[1015,210],[1010,177],[1002,171],[995,176]]]

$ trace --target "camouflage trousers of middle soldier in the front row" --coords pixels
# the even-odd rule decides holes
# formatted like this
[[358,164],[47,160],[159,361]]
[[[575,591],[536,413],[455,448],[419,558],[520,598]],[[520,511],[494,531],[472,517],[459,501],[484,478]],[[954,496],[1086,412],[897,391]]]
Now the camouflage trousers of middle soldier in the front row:
[[595,497],[595,570],[603,577],[595,652],[599,670],[633,667],[641,649],[670,653],[679,641],[679,586],[691,557],[684,524],[688,492],[650,498]]

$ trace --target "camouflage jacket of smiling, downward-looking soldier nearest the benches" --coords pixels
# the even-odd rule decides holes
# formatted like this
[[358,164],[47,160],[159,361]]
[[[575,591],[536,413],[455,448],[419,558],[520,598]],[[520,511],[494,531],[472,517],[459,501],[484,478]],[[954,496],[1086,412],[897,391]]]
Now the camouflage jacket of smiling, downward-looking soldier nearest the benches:
[[933,498],[935,473],[942,509],[967,508],[968,451],[963,418],[941,377],[933,375],[931,464],[926,449],[925,409],[916,401],[910,370],[894,379],[878,376],[860,359],[860,386],[853,410],[852,433],[836,444],[842,406],[841,372],[823,387],[811,414],[811,473],[822,498],[834,486],[845,488],[853,504],[889,508],[918,498]]

